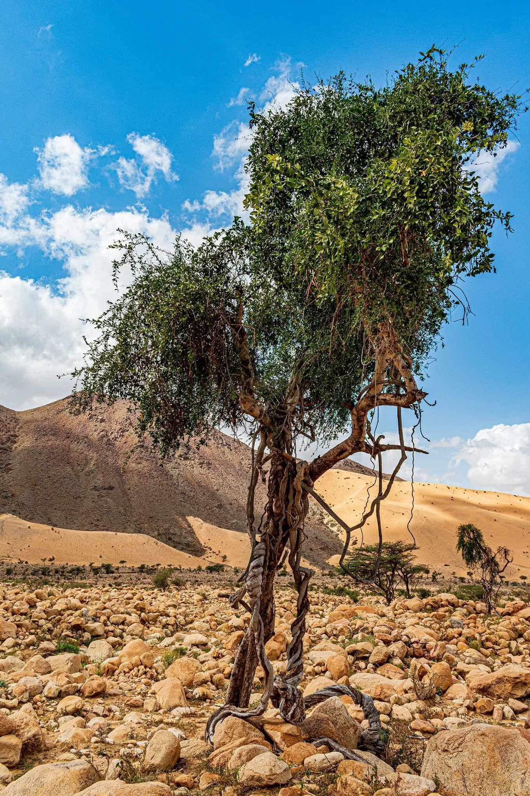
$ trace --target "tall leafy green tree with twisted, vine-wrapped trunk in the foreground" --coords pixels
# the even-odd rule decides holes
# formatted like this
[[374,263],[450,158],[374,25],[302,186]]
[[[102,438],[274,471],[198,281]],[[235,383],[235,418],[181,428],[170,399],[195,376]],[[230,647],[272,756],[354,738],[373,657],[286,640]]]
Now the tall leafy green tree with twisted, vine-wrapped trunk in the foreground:
[[[116,244],[115,267],[131,267],[132,279],[94,322],[77,403],[130,400],[138,431],[162,453],[219,426],[247,427],[252,439],[251,560],[232,598],[251,622],[228,707],[210,733],[229,713],[263,712],[269,699],[290,721],[314,704],[298,689],[308,496],[329,468],[360,452],[380,462],[398,450],[395,477],[412,450],[401,412],[419,412],[419,378],[440,327],[455,306],[466,311],[461,280],[493,270],[493,225],[510,228],[509,213],[481,197],[470,163],[505,146],[520,98],[497,96],[469,73],[466,64],[451,71],[432,49],[384,88],[339,74],[302,86],[286,107],[251,104],[248,222],[236,218],[197,249],[182,238],[172,252],[142,236]],[[381,407],[396,408],[399,444],[372,431]],[[325,453],[300,458],[308,441],[327,445]],[[260,477],[267,502],[255,506]],[[392,480],[383,489],[380,478],[366,512],[376,512],[379,527]],[[286,556],[298,613],[286,673],[273,677],[264,643]],[[266,685],[249,712],[258,662]],[[373,728],[375,737],[375,720]]]

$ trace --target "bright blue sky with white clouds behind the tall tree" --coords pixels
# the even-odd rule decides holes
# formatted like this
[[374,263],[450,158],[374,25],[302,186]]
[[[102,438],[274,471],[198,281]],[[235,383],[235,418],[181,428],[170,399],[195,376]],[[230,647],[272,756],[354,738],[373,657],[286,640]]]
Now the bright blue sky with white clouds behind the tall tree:
[[[244,193],[245,101],[288,99],[339,68],[376,83],[431,44],[477,75],[530,86],[528,3],[11,2],[0,5],[0,404],[29,408],[69,385],[79,318],[111,297],[115,228],[170,244],[227,224]],[[247,65],[245,65],[247,64]],[[246,91],[244,91],[246,89]],[[530,117],[485,163],[495,276],[468,283],[469,326],[444,330],[419,475],[530,494]],[[383,420],[384,422],[384,420]]]

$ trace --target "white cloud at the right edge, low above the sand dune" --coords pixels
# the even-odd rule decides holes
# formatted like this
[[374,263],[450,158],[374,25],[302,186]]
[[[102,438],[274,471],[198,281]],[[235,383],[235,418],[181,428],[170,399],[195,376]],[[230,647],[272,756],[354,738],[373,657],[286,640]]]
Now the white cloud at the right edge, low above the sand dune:
[[530,423],[482,428],[454,462],[470,465],[467,478],[477,489],[530,496]]

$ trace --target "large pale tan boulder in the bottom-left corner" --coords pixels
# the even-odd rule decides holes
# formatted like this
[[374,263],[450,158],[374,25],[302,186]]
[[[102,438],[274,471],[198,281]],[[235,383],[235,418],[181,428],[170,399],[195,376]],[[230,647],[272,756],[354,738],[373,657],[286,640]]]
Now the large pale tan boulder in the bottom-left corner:
[[11,782],[6,787],[6,796],[75,796],[99,779],[88,760],[45,763]]

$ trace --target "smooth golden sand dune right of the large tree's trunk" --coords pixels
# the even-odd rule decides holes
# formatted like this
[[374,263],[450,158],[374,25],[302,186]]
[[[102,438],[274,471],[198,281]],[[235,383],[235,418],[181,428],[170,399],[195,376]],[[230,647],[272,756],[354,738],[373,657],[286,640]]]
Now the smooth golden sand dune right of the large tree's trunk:
[[[339,517],[353,525],[362,515],[372,483],[373,478],[364,475],[331,470],[318,480],[316,488]],[[414,493],[411,531],[419,546],[420,563],[444,575],[452,572],[465,575],[466,567],[455,550],[456,529],[461,523],[472,522],[481,529],[491,547],[505,545],[513,551],[509,577],[530,577],[530,497],[442,484],[415,484]],[[370,494],[374,494],[373,487]],[[396,483],[381,509],[385,539],[410,539],[407,533],[410,515],[411,484]],[[375,517],[364,526],[364,540],[369,544],[376,541]],[[335,560],[333,556],[332,562]]]

